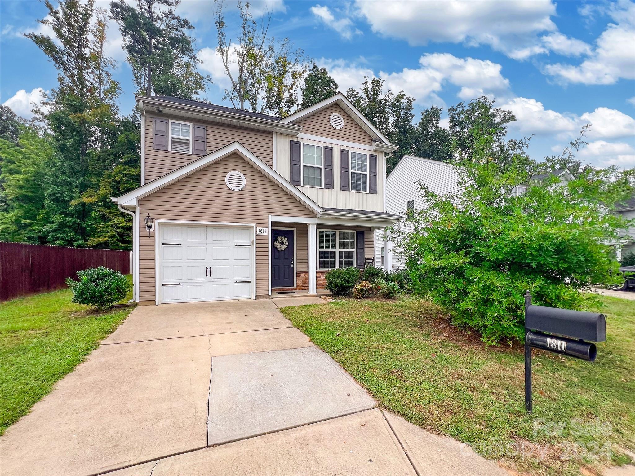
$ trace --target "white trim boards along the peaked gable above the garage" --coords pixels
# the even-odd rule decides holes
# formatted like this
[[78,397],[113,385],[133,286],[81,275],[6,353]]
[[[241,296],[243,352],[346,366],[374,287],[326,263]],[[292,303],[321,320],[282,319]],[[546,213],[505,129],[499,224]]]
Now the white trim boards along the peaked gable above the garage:
[[170,185],[171,183],[177,182],[185,176],[191,175],[192,173],[209,166],[220,159],[224,159],[231,154],[237,154],[240,157],[243,157],[243,159],[253,165],[263,175],[271,178],[273,182],[277,183],[277,185],[281,188],[284,188],[286,192],[297,199],[300,203],[304,204],[304,206],[306,206],[309,210],[316,213],[316,215],[322,213],[322,208],[316,202],[312,201],[309,197],[307,197],[307,195],[300,192],[297,187],[291,185],[291,183],[288,182],[282,175],[265,164],[265,162],[258,159],[258,157],[253,155],[249,150],[245,149],[245,147],[239,142],[232,142],[229,145],[225,145],[225,147],[222,147],[215,152],[211,152],[211,154],[203,155],[203,157],[191,162],[190,164],[173,170],[156,180],[152,180],[152,182],[147,183],[146,185],[135,188],[135,190],[118,197],[117,203],[121,205],[137,206],[139,199],[142,199],[143,197],[150,195],[157,190]]

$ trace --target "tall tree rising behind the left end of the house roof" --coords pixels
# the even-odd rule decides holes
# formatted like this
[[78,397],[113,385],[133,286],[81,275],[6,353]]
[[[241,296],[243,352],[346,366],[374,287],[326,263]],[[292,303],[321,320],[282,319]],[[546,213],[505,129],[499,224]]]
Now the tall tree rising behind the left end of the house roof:
[[196,71],[192,24],[179,17],[180,0],[125,0],[110,3],[110,16],[119,23],[124,50],[138,93],[196,99],[209,77]]

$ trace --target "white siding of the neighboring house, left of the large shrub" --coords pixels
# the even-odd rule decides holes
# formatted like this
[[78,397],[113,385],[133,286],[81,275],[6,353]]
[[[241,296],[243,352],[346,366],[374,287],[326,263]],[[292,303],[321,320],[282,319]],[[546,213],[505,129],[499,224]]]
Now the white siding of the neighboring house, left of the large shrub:
[[[415,210],[424,206],[424,200],[419,194],[417,182],[421,180],[432,192],[443,195],[457,190],[458,175],[452,166],[443,162],[417,157],[404,157],[391,175],[386,178],[386,211],[404,216],[408,202],[415,202]],[[375,262],[381,262],[381,248],[384,246],[382,237],[384,230],[375,231]],[[402,268],[401,260],[396,253],[392,253],[392,268]]]

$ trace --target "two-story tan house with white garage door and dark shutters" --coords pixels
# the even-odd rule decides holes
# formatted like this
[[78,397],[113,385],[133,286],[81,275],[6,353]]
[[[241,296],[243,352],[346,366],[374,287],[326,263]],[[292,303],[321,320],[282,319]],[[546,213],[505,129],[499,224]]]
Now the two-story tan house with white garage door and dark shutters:
[[280,118],[138,96],[141,186],[133,215],[142,304],[266,298],[363,267],[385,212],[392,145],[341,93]]

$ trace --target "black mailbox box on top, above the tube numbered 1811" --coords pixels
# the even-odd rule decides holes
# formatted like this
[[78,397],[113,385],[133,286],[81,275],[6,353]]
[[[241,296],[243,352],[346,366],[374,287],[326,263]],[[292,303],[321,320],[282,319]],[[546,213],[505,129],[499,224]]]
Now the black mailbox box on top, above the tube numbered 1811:
[[606,319],[604,314],[596,312],[528,305],[525,310],[525,329],[590,342],[606,340]]

